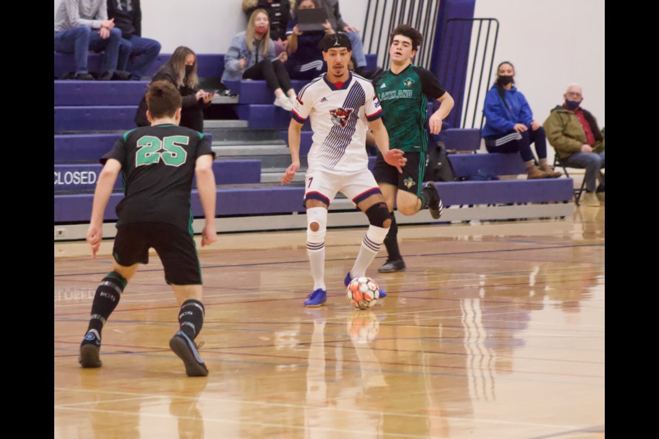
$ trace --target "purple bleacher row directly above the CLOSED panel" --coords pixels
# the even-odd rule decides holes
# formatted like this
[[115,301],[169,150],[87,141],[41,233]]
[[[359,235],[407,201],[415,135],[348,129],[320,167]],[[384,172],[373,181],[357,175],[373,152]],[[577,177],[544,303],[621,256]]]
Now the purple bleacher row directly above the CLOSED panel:
[[[97,162],[111,150],[121,134],[56,134],[55,163]],[[213,136],[204,134],[213,142]]]

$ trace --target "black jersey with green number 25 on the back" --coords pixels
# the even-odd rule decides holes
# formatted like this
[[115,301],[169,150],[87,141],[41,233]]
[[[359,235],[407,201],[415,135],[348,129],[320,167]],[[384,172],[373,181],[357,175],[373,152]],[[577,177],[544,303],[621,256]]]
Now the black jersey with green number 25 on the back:
[[119,223],[166,222],[188,230],[194,168],[204,154],[214,155],[211,143],[189,128],[157,125],[126,132],[100,160],[122,163]]

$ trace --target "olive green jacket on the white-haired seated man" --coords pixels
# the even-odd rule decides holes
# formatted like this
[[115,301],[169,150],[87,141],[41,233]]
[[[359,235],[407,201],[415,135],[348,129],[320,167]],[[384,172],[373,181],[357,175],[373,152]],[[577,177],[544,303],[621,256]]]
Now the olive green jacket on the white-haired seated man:
[[[590,112],[583,110],[586,120],[590,123],[590,128],[595,136],[595,144],[591,145],[593,152],[602,152],[604,150],[604,134],[599,130],[597,121],[592,117]],[[586,132],[583,131],[579,118],[573,111],[567,110],[563,106],[556,106],[542,128],[547,135],[547,140],[554,147],[560,158],[566,158],[581,151],[581,145],[586,143]]]

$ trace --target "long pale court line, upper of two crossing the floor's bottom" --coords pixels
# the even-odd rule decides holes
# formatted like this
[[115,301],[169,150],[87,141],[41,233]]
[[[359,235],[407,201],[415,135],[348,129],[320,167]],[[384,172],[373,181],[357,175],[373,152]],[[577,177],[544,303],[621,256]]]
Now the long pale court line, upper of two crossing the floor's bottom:
[[[170,395],[170,394],[152,394],[152,393],[140,393],[140,392],[122,392],[122,391],[109,391],[109,390],[96,390],[96,389],[72,389],[72,388],[54,388],[54,390],[59,390],[63,392],[84,392],[84,393],[106,393],[106,394],[125,394],[125,395],[132,395],[132,396],[150,396],[150,397],[166,397],[166,398],[176,398],[176,399],[188,399],[188,400],[196,400],[196,401],[209,401],[209,402],[216,402],[216,403],[232,403],[232,404],[253,404],[253,405],[265,405],[265,406],[273,406],[273,407],[287,407],[287,408],[297,408],[297,409],[305,409],[305,408],[318,408],[314,405],[306,405],[306,404],[292,404],[292,403],[272,403],[268,401],[248,401],[248,400],[243,400],[243,399],[229,399],[229,398],[218,398],[218,397],[209,397],[209,396],[178,396],[178,395]],[[58,407],[57,405],[55,407]],[[66,408],[66,407],[63,407]],[[399,413],[399,412],[385,412],[385,411],[377,411],[377,410],[363,410],[361,408],[342,408],[342,407],[335,407],[332,405],[327,405],[326,407],[322,407],[323,410],[325,411],[332,411],[332,412],[350,412],[350,413],[363,413],[363,414],[382,414],[382,415],[387,415],[387,416],[400,416],[403,418],[442,418],[442,419],[450,419],[450,420],[456,420],[456,421],[464,421],[464,422],[477,422],[477,423],[487,423],[487,424],[501,424],[501,425],[523,425],[527,427],[549,427],[549,428],[560,428],[560,429],[580,429],[581,427],[576,426],[576,425],[557,425],[557,424],[542,424],[542,423],[528,423],[524,421],[516,421],[516,420],[498,420],[498,419],[480,419],[480,418],[463,418],[459,416],[441,416],[441,415],[435,415],[435,414],[411,414],[411,413]],[[135,414],[135,412],[130,412],[132,414]],[[206,419],[206,418],[204,418]],[[240,421],[239,421],[240,422]],[[370,431],[369,431],[370,432]],[[419,436],[413,436],[413,437],[419,437]],[[427,437],[427,436],[420,436],[420,437]]]

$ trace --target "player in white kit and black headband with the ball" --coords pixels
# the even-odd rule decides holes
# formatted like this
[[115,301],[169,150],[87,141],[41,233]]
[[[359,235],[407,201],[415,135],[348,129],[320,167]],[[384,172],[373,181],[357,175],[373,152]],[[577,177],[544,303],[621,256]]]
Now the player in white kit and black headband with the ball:
[[[389,149],[389,136],[380,117],[382,108],[368,80],[348,69],[350,40],[345,34],[327,35],[319,43],[327,62],[327,73],[302,88],[293,107],[288,126],[288,145],[292,164],[281,178],[290,183],[300,168],[300,133],[303,123],[311,118],[314,132],[307,156],[304,201],[307,208],[307,254],[314,278],[314,292],[305,300],[307,307],[319,307],[327,301],[325,286],[325,233],[327,207],[337,192],[350,198],[369,218],[369,230],[355,263],[345,276],[348,285],[353,278],[364,276],[382,246],[391,218],[382,192],[368,169],[366,132],[373,130],[375,141],[389,165],[398,168],[407,159],[400,150]],[[386,293],[380,289],[380,297]]]

